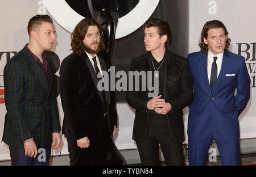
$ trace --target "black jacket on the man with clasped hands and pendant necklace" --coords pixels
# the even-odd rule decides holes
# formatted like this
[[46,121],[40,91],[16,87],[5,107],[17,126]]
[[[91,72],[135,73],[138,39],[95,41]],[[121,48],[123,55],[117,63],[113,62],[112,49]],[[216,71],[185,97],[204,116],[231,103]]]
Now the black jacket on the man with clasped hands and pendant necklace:
[[[187,58],[177,56],[166,50],[167,58],[164,74],[164,99],[171,104],[171,111],[167,113],[168,127],[176,141],[184,141],[184,125],[182,109],[189,106],[193,100],[191,72]],[[151,53],[147,52],[131,61],[131,71],[150,70]],[[140,80],[140,85],[141,85]],[[127,87],[129,88],[129,87]],[[146,136],[149,112],[147,102],[148,91],[127,91],[127,103],[136,109],[133,140],[143,141]]]

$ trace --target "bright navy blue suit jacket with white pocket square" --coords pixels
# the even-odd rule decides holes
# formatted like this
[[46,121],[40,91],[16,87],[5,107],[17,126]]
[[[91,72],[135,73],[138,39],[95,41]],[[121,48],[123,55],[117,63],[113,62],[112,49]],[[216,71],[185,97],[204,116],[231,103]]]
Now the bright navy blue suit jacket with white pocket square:
[[214,129],[220,140],[237,140],[240,138],[238,116],[250,99],[250,77],[245,58],[225,50],[221,71],[212,90],[207,58],[208,53],[204,52],[188,54],[195,96],[189,107],[188,138],[203,140],[209,135],[209,129]]

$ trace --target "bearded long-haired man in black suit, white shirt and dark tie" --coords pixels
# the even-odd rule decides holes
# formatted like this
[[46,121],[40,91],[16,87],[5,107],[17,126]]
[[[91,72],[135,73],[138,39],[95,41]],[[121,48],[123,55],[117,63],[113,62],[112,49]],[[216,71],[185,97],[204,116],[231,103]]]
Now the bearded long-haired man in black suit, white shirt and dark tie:
[[81,20],[71,35],[73,53],[60,67],[63,133],[70,165],[106,165],[117,132],[114,92],[100,91],[97,86],[102,79],[99,75],[102,77],[102,71],[110,68],[109,55],[102,52],[104,42],[99,29],[95,20]]

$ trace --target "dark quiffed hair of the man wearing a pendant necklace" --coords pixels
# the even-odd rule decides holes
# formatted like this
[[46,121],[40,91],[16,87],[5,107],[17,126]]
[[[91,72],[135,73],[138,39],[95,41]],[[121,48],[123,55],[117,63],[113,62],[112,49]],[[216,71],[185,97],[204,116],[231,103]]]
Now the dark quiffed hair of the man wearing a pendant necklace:
[[158,28],[158,34],[160,37],[166,35],[167,41],[171,41],[171,29],[169,24],[158,18],[148,19],[147,22],[144,23],[144,28],[156,27]]

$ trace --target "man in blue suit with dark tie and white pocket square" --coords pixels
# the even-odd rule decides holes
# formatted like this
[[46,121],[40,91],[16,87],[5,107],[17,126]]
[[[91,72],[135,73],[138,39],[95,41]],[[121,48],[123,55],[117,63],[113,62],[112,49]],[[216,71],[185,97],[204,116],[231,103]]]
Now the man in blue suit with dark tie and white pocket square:
[[222,165],[241,165],[238,116],[250,98],[250,77],[245,58],[228,51],[230,41],[224,24],[212,20],[201,32],[201,51],[188,54],[195,96],[188,116],[189,165],[205,165],[213,140]]

